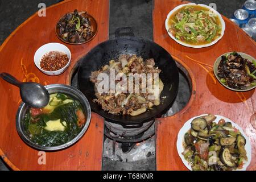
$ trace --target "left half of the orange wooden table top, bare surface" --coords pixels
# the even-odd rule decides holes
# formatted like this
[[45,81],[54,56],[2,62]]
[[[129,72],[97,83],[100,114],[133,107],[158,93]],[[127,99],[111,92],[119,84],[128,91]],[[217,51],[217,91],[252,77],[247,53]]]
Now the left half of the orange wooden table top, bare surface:
[[[73,46],[61,42],[55,34],[57,20],[73,10],[88,11],[98,23],[96,37],[89,43]],[[46,17],[37,13],[28,18],[0,47],[0,72],[8,72],[23,81],[40,84],[69,84],[72,68],[81,56],[109,38],[109,1],[73,0],[48,7]],[[71,65],[59,76],[44,75],[34,64],[34,53],[43,44],[57,42],[72,53]],[[101,170],[104,119],[92,113],[85,135],[73,146],[45,155],[27,146],[15,127],[15,115],[21,102],[19,89],[0,79],[0,155],[14,170]],[[44,156],[46,164],[44,164]],[[43,163],[43,164],[42,164]]]

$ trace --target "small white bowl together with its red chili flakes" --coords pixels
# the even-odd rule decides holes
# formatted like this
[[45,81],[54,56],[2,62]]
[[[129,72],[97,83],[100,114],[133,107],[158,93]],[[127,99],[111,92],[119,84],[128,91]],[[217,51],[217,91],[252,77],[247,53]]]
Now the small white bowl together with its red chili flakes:
[[46,75],[60,75],[71,62],[71,52],[60,43],[48,43],[41,46],[34,55],[34,63]]

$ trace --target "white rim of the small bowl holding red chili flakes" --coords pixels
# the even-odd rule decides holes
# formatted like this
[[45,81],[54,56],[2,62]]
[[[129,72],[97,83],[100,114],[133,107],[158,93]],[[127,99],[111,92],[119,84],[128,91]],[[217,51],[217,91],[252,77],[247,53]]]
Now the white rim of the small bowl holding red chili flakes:
[[[68,60],[68,63],[63,67],[63,68],[60,68],[60,69],[58,69],[58,70],[55,70],[55,71],[46,71],[46,70],[44,70],[44,69],[42,69],[38,64],[36,64],[36,60],[35,60],[35,55],[36,55],[36,53],[39,51],[39,49],[42,49],[43,47],[45,47],[45,46],[48,46],[49,44],[59,44],[59,46],[63,46],[64,48],[66,48],[67,50],[68,50],[68,53],[69,53],[69,60]],[[53,50],[54,51],[54,50]],[[48,52],[46,52],[46,53],[48,53]],[[45,53],[45,54],[46,54]],[[69,66],[69,64],[71,63],[71,51],[69,50],[69,48],[67,47],[67,46],[65,46],[64,44],[61,44],[61,43],[57,43],[57,42],[51,42],[51,43],[47,43],[47,44],[44,44],[43,46],[40,46],[37,50],[36,50],[36,52],[35,52],[35,54],[34,54],[34,64],[36,65],[36,67],[38,68],[38,69],[40,69],[40,71],[42,71],[42,72],[44,72],[44,73],[48,73],[48,74],[52,74],[52,73],[55,73],[55,72],[59,72],[59,71],[63,71],[63,70],[65,70],[68,66]],[[48,75],[47,74],[47,75]]]

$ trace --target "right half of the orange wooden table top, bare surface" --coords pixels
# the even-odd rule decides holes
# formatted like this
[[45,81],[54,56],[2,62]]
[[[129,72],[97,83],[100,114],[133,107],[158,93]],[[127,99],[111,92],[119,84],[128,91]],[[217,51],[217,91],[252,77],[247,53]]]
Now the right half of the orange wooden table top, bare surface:
[[[181,46],[168,36],[164,21],[177,0],[155,0],[153,11],[154,41],[164,47],[176,61],[187,69],[192,82],[188,105],[172,117],[156,121],[156,168],[158,170],[187,170],[177,154],[176,141],[180,128],[188,119],[201,114],[218,114],[240,125],[250,138],[252,159],[248,170],[256,170],[256,93],[233,92],[224,88],[213,75],[213,63],[218,56],[230,51],[245,52],[256,57],[256,43],[228,18],[222,39],[206,48]],[[254,127],[253,127],[253,125]]]

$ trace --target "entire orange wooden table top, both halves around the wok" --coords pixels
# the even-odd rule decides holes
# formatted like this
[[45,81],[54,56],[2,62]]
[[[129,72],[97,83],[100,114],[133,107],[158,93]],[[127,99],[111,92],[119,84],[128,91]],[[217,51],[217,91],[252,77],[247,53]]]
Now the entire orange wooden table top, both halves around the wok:
[[[183,2],[184,3],[184,2]],[[222,53],[241,51],[256,57],[255,42],[245,32],[224,17],[226,30],[223,38],[207,48],[188,48],[172,40],[164,27],[169,11],[181,1],[155,0],[153,11],[154,41],[167,49],[184,69],[192,84],[192,96],[183,110],[172,117],[156,121],[156,166],[158,170],[185,170],[176,150],[177,133],[189,118],[204,113],[224,115],[238,123],[250,138],[252,160],[249,170],[256,169],[256,94],[232,92],[225,89],[213,76],[212,65]],[[62,43],[54,28],[60,16],[74,9],[88,11],[97,20],[98,33],[89,43],[80,46],[65,44],[72,53],[72,63],[60,76],[46,76],[34,65],[34,53],[43,44]],[[72,68],[77,60],[109,35],[108,0],[64,1],[47,9],[46,17],[37,14],[21,24],[0,47],[0,72],[9,72],[19,80],[41,84],[69,84]],[[15,128],[15,114],[20,104],[19,90],[0,80],[1,122],[0,155],[13,169],[22,170],[101,170],[104,119],[92,114],[84,137],[75,145],[57,152],[46,152],[46,164],[40,164],[39,151],[27,146]],[[251,122],[250,122],[251,121]]]

